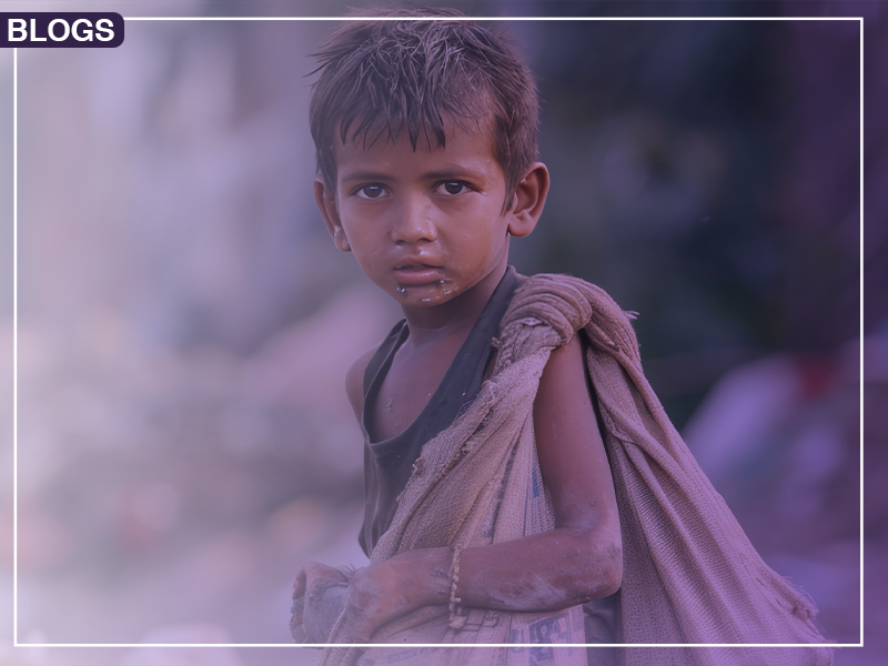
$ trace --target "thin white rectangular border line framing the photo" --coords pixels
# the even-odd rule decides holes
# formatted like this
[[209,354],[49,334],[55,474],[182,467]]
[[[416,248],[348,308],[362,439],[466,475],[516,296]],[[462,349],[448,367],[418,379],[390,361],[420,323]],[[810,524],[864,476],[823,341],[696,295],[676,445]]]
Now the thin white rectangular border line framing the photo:
[[[410,20],[404,17],[124,17],[125,21],[380,21]],[[430,19],[423,19],[430,20]],[[431,20],[471,21],[858,21],[860,26],[860,642],[834,643],[831,647],[864,646],[864,19],[862,17],[452,17]],[[289,643],[19,643],[18,634],[18,48],[12,49],[12,645],[14,647],[319,647]],[[346,644],[333,644],[343,647]],[[383,643],[356,643],[356,647],[384,647]],[[513,643],[511,647],[538,647]],[[392,647],[502,647],[500,643],[451,644],[398,643]],[[818,647],[799,643],[564,643],[556,647]]]

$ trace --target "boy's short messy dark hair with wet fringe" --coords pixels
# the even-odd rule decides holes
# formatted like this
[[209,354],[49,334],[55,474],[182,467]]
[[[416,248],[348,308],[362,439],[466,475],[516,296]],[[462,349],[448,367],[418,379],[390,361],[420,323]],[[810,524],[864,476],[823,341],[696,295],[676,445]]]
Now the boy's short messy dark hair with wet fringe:
[[[372,145],[406,132],[444,147],[444,118],[491,133],[506,203],[537,159],[538,100],[531,71],[500,36],[451,9],[382,10],[349,21],[314,53],[309,118],[317,172],[335,191],[334,140]],[[404,18],[413,20],[391,20]],[[434,20],[416,20],[431,18]],[[462,18],[463,20],[447,20]],[[354,125],[354,128],[353,128]]]

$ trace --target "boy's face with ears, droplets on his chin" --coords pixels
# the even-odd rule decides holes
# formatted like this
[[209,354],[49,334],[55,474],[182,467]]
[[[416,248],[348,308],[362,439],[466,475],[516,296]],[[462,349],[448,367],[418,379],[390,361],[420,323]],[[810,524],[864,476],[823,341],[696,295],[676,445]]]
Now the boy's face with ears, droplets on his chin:
[[[505,266],[508,235],[528,234],[548,174],[534,164],[503,212],[505,176],[487,132],[445,124],[446,147],[406,138],[336,144],[336,191],[315,196],[340,250],[404,307],[430,307]],[[536,194],[527,195],[528,188]],[[533,199],[533,201],[531,201]],[[538,209],[538,210],[537,210]]]

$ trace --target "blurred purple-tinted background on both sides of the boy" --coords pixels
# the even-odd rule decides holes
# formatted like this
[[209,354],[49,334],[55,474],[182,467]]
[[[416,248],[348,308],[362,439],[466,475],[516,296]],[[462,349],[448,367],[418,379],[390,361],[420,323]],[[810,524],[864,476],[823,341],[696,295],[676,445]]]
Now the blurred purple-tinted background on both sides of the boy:
[[[90,9],[289,13],[273,2],[99,4]],[[569,7],[628,13],[619,2]],[[751,13],[798,9],[764,7]],[[866,75],[881,82],[867,105],[884,109],[888,13],[845,8],[867,12]],[[282,646],[3,647],[0,664],[316,662],[283,645],[290,589],[306,559],[365,562],[362,442],[343,381],[398,319],[314,206],[307,54],[334,26],[129,21],[113,51],[19,50],[18,639]],[[537,77],[553,176],[513,262],[582,276],[640,313],[645,367],[667,412],[765,559],[811,594],[839,643],[860,636],[862,435],[867,624],[886,626],[876,569],[888,551],[888,201],[874,183],[888,179],[888,151],[884,113],[868,113],[861,434],[859,23],[494,29]],[[0,122],[12,127],[11,54],[0,63]],[[2,141],[11,154],[11,133]],[[11,160],[0,168],[11,210]],[[2,233],[12,274],[11,224]],[[11,289],[0,306],[11,351]],[[11,382],[2,391],[11,405]],[[3,415],[7,437],[12,410]],[[2,492],[11,516],[11,475]],[[10,574],[11,552],[10,539]],[[11,624],[11,610],[0,617]],[[868,634],[867,650],[842,649],[836,663],[880,663],[879,640]]]

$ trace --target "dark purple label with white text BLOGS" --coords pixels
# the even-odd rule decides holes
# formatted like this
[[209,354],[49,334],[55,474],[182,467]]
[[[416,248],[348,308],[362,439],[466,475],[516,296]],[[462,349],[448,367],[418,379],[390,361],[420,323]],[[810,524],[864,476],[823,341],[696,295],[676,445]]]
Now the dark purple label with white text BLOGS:
[[123,43],[123,17],[111,11],[0,12],[0,47],[113,49]]

